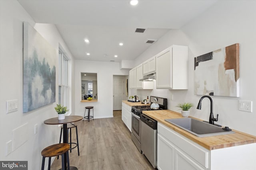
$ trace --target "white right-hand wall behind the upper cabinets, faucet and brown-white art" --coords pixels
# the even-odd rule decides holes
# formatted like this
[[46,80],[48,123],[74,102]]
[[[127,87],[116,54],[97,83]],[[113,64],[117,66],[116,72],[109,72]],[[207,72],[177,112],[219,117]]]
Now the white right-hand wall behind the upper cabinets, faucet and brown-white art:
[[[256,135],[256,1],[218,1],[203,14],[184,25],[171,30],[140,55],[136,65],[164,50],[170,45],[188,45],[188,90],[131,90],[138,96],[168,98],[168,109],[178,111],[179,102],[192,102],[191,115],[208,120],[210,101],[202,101],[202,110],[196,109],[200,97],[194,95],[194,57],[240,43],[240,98],[212,96],[217,124]],[[134,66],[136,66],[134,65]],[[173,96],[173,100],[171,100]],[[238,110],[238,100],[251,100],[253,112]]]

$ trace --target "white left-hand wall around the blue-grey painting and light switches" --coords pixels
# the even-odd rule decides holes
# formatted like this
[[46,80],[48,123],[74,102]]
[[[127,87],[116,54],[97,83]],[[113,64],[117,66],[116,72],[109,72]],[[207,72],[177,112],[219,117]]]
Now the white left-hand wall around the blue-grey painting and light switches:
[[[59,44],[70,58],[70,68],[74,63],[72,63],[72,56],[54,25],[36,24],[16,0],[0,1],[0,160],[26,160],[28,161],[28,170],[36,170],[40,169],[42,164],[42,149],[58,143],[60,128],[58,125],[44,124],[44,120],[57,116],[54,110],[56,103],[22,113],[23,21],[28,21],[56,49],[56,101],[58,100]],[[73,74],[72,70],[73,68],[69,72],[70,75]],[[71,94],[72,78],[70,78],[70,84]],[[72,95],[74,96],[74,94]],[[72,97],[70,97],[70,101]],[[6,114],[6,100],[13,99],[18,100],[18,111]],[[73,109],[74,107],[71,112]],[[6,142],[12,140],[13,129],[26,123],[27,130],[24,132],[26,142],[6,155]],[[38,124],[38,133],[36,134],[34,134],[35,124]]]

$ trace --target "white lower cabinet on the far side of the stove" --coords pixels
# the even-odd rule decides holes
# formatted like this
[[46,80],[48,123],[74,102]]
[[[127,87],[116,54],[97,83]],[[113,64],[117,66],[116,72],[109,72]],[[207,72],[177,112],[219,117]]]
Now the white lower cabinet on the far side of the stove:
[[122,121],[132,131],[132,107],[122,102]]

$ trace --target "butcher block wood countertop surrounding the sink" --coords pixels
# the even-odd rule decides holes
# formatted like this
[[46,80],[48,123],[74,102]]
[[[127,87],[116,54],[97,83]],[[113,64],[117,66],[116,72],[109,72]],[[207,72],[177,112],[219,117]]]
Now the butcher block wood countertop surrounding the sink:
[[[188,139],[198,143],[202,147],[208,150],[222,149],[226,147],[234,147],[238,145],[246,145],[250,143],[256,143],[256,136],[249,135],[240,131],[232,129],[235,133],[228,135],[216,135],[211,137],[196,137],[171,123],[168,123],[164,119],[175,119],[182,118],[180,113],[171,110],[156,110],[156,111],[143,111],[145,115],[152,117],[156,121],[170,127],[172,130],[180,133],[181,135],[187,137]],[[194,118],[194,117],[192,117]],[[197,119],[197,118],[194,118]],[[200,120],[200,119],[198,119]]]

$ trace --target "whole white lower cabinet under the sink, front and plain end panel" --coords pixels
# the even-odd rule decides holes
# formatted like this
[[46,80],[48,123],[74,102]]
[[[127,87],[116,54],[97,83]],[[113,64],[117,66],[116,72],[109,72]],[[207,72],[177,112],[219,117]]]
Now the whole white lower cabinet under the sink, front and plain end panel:
[[158,122],[158,170],[256,170],[256,143],[208,150]]

